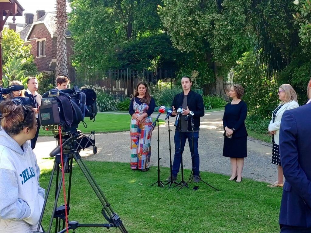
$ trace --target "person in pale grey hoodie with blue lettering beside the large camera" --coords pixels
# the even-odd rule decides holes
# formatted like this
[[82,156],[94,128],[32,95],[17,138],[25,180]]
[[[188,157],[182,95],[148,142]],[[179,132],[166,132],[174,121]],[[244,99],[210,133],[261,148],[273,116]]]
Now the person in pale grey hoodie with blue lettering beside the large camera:
[[30,147],[37,130],[31,106],[0,103],[0,232],[36,231],[44,203],[40,170]]

